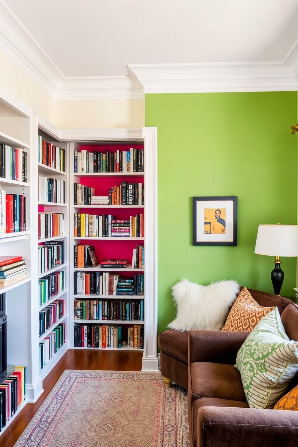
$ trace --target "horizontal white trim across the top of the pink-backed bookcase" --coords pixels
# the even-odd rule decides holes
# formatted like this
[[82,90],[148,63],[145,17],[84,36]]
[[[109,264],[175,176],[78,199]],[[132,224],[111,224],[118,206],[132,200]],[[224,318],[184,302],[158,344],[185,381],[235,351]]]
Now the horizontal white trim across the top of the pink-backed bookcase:
[[140,129],[61,129],[59,137],[62,141],[143,140]]

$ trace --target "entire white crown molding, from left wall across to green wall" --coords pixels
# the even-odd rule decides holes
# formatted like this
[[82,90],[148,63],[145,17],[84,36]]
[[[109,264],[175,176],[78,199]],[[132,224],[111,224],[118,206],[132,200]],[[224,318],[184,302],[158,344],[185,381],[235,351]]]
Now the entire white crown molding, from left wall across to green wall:
[[298,46],[274,63],[130,64],[128,76],[67,78],[0,0],[0,51],[56,101],[143,99],[145,93],[298,89]]

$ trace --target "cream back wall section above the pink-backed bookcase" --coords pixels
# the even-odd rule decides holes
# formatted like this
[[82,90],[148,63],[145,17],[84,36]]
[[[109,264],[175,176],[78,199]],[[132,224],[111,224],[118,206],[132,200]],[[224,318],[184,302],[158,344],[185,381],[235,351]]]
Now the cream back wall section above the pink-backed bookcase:
[[59,129],[140,129],[145,126],[145,99],[55,101]]

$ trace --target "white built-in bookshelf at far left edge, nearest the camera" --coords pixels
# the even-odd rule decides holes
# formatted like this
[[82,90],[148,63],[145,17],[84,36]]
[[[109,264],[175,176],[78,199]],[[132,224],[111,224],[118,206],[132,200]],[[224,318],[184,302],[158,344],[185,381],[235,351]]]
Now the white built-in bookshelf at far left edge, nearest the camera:
[[[18,101],[4,89],[0,89],[0,144],[2,151],[0,163],[0,191],[2,194],[0,210],[0,255],[8,257],[21,256],[25,259],[26,266],[26,271],[21,275],[22,277],[20,279],[16,279],[12,283],[8,283],[2,287],[0,286],[0,294],[4,294],[4,311],[7,316],[7,363],[8,365],[26,367],[28,394],[26,400],[17,409],[16,414],[32,398],[31,391],[35,380],[31,353],[33,328],[30,324],[31,279],[33,273],[31,266],[32,120],[33,116],[29,107],[21,101]],[[11,167],[11,170],[8,164],[6,166],[4,165],[4,152],[6,153],[4,160],[8,164],[11,161],[11,156],[14,156],[14,165],[13,168]],[[22,158],[22,154],[26,156],[26,163],[24,160],[27,167],[25,181],[22,177],[23,163],[18,158],[19,156]],[[6,232],[6,198],[8,198],[8,201],[12,198],[14,201],[18,201],[17,222],[10,222],[9,224],[12,224],[12,232]],[[20,214],[21,199],[22,223]],[[12,420],[13,418],[10,419],[9,423]]]

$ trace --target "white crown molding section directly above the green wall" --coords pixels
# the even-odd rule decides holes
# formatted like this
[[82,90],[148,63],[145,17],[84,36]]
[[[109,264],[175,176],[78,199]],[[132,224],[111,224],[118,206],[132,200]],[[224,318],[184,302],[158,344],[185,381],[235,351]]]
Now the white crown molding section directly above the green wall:
[[290,63],[129,65],[144,93],[297,90]]

